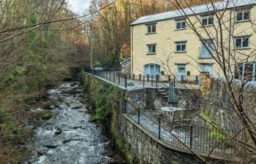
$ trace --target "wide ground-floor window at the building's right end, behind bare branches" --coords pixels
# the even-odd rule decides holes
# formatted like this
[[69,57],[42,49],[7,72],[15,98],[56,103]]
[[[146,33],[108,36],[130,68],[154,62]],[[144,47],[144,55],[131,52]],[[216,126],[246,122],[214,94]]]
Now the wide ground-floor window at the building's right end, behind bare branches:
[[255,82],[256,63],[238,63],[234,72],[235,79]]

